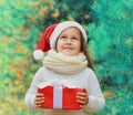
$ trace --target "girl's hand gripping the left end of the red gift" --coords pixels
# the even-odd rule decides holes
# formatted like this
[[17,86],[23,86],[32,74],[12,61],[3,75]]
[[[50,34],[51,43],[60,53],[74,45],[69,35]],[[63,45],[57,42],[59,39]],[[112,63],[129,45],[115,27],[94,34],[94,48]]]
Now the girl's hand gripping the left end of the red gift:
[[41,93],[38,93],[35,95],[35,100],[34,100],[34,107],[35,108],[40,108],[41,104],[44,102],[44,95]]

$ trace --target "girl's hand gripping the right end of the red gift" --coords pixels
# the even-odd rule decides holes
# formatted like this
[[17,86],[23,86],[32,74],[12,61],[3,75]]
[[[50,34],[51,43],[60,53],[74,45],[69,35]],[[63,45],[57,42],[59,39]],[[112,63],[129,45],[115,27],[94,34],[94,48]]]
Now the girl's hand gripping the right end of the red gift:
[[76,94],[76,102],[80,103],[81,108],[84,108],[86,106],[86,104],[89,103],[89,96],[85,88],[84,92],[79,92]]

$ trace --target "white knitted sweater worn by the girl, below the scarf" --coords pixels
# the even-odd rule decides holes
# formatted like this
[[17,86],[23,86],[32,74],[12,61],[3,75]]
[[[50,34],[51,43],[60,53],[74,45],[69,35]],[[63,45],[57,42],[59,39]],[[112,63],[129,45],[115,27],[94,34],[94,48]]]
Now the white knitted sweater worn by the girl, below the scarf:
[[[91,69],[85,69],[78,74],[59,74],[42,66],[34,75],[30,88],[25,94],[25,106],[29,109],[34,108],[34,96],[40,83],[61,83],[69,87],[84,87],[89,94],[89,104],[81,111],[64,111],[64,109],[44,109],[44,115],[90,115],[96,113],[105,105],[105,100],[102,95],[99,81]],[[31,102],[32,101],[32,102]]]

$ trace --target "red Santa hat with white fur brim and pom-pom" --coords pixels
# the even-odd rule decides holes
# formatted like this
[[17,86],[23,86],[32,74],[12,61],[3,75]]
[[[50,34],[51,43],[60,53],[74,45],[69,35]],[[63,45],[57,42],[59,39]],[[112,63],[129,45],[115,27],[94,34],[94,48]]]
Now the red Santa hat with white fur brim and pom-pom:
[[85,30],[75,21],[65,21],[58,24],[52,24],[45,29],[41,40],[39,41],[37,49],[33,52],[34,60],[41,60],[44,56],[44,52],[49,51],[50,49],[54,49],[55,42],[61,32],[71,27],[78,28],[81,31],[84,41],[88,41]]

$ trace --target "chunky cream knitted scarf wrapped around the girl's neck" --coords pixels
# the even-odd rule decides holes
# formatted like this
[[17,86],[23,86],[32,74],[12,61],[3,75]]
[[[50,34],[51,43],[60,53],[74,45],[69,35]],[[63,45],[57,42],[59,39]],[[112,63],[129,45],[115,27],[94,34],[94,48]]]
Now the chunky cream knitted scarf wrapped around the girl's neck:
[[50,50],[43,59],[43,65],[57,73],[74,74],[84,70],[88,66],[88,61],[83,53],[69,56]]

